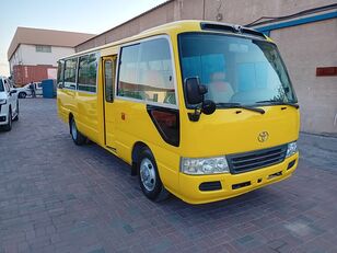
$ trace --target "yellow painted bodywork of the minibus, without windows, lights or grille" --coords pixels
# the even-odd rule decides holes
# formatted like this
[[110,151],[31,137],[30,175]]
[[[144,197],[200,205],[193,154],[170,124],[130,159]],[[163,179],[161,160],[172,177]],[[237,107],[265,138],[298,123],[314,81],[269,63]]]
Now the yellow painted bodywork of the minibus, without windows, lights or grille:
[[[68,123],[69,114],[72,114],[83,135],[129,164],[132,163],[131,153],[135,145],[137,142],[146,143],[155,158],[164,186],[187,203],[200,204],[225,199],[289,177],[298,165],[298,153],[279,164],[241,174],[186,175],[179,172],[182,157],[202,158],[254,151],[284,145],[299,137],[299,111],[287,105],[264,106],[265,114],[237,108],[217,110],[212,115],[202,114],[199,122],[190,122],[187,113],[193,111],[187,110],[184,102],[177,35],[193,31],[201,32],[199,22],[176,22],[86,51],[101,54],[97,92],[90,94],[58,89],[59,116]],[[163,34],[171,39],[176,73],[181,125],[178,147],[163,140],[147,112],[146,103],[128,101],[118,96],[115,96],[114,102],[109,104],[104,100],[102,70],[104,57],[118,54],[124,44]],[[241,113],[237,114],[237,111]],[[269,133],[268,141],[259,142],[257,140],[257,136],[262,131]],[[113,138],[109,145],[106,142],[106,136]],[[287,170],[288,163],[293,160],[295,160],[295,164]],[[282,173],[268,180],[269,175],[277,172]],[[260,183],[257,182],[259,179],[262,179]],[[200,183],[210,181],[220,181],[222,189],[199,191]],[[231,185],[246,181],[251,181],[252,185],[240,189],[231,188]]]

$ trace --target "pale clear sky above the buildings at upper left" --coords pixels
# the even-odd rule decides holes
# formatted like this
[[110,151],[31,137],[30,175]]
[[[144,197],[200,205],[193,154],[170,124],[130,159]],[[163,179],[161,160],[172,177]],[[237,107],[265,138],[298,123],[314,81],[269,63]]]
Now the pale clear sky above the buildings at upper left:
[[166,0],[1,0],[0,76],[18,26],[100,34]]

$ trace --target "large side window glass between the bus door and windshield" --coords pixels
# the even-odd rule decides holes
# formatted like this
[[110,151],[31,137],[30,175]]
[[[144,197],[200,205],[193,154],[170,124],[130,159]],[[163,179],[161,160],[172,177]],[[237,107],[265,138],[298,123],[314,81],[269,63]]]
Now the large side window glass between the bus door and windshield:
[[118,95],[175,104],[170,45],[165,38],[124,47],[120,58]]

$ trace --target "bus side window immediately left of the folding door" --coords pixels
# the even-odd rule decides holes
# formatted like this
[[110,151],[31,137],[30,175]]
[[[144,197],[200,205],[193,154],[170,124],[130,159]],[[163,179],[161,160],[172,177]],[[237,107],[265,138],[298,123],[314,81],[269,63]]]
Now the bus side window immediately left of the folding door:
[[81,91],[96,92],[96,55],[80,57],[78,85]]

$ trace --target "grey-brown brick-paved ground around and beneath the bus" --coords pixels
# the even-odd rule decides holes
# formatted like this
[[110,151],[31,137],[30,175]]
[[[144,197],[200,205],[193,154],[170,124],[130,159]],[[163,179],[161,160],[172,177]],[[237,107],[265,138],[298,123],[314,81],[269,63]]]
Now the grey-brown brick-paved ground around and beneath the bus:
[[129,168],[75,147],[55,100],[0,133],[0,252],[337,252],[337,139],[301,136],[288,181],[191,206],[148,200]]

